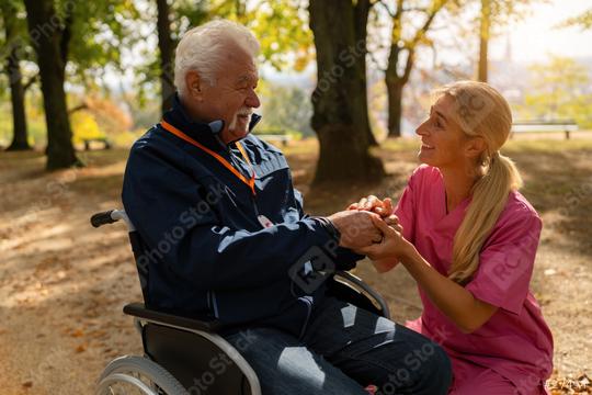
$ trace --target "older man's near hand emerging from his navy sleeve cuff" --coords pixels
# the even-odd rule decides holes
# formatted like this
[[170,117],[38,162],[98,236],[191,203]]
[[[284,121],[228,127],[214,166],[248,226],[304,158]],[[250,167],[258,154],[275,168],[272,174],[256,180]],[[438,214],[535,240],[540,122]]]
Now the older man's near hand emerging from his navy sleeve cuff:
[[376,228],[372,217],[378,216],[365,211],[342,211],[328,218],[341,234],[339,245],[350,249],[368,247],[373,242],[380,242],[383,234]]

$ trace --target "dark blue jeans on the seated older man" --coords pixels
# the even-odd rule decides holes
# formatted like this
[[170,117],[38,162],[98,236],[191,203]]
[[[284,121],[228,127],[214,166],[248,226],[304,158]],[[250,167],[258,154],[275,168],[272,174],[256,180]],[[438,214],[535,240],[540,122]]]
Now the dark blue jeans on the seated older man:
[[227,336],[264,395],[447,394],[451,362],[420,334],[352,304],[326,298],[301,339],[272,328]]

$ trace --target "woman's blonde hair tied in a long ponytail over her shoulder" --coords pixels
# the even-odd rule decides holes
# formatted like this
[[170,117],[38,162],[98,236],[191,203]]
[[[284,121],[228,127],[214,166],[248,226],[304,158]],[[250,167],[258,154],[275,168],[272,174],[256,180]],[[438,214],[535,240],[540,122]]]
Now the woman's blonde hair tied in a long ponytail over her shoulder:
[[456,102],[456,122],[468,137],[481,137],[487,149],[474,169],[476,182],[471,202],[453,244],[448,278],[466,284],[479,268],[479,255],[511,191],[522,187],[514,162],[500,154],[512,126],[512,113],[505,99],[489,84],[459,81],[439,90]]

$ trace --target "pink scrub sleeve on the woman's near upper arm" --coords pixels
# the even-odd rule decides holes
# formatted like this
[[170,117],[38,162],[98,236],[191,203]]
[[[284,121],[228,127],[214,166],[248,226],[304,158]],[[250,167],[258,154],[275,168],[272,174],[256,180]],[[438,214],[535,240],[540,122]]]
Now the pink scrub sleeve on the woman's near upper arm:
[[502,215],[466,289],[480,301],[520,314],[528,293],[542,222],[524,206]]

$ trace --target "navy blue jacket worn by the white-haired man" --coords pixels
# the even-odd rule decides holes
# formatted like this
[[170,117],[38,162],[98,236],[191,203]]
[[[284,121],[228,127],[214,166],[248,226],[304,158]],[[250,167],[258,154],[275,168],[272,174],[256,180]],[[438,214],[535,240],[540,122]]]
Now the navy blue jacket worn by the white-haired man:
[[[250,174],[236,144],[217,137],[221,122],[192,122],[179,99],[164,120]],[[253,115],[251,127],[258,121]],[[241,144],[257,174],[255,196],[215,158],[160,124],[132,147],[122,200],[147,246],[139,262],[149,273],[146,304],[300,336],[325,297],[319,271],[350,269],[362,257],[338,247],[328,219],[305,215],[277,148],[253,135]],[[274,225],[264,228],[260,215]]]

